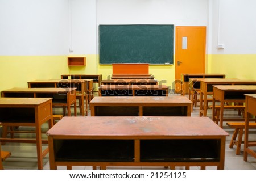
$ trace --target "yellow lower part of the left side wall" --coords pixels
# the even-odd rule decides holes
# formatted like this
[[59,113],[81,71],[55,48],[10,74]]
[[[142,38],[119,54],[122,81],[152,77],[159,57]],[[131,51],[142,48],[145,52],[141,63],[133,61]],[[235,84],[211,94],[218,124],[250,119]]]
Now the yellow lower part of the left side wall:
[[0,91],[68,73],[67,56],[0,56]]

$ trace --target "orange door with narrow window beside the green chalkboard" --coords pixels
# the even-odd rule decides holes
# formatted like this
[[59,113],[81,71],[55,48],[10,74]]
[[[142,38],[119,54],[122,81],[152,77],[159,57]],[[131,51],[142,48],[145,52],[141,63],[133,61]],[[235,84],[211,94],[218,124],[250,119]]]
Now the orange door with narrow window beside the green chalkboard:
[[181,74],[205,73],[206,27],[176,27],[175,92],[181,90]]

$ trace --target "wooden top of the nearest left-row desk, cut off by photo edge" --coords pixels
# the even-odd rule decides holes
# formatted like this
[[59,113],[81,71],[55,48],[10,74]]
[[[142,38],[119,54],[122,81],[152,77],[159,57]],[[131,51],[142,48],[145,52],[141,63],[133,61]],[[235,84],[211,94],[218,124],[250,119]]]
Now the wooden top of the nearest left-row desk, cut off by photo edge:
[[36,106],[51,99],[52,98],[0,98],[0,106]]

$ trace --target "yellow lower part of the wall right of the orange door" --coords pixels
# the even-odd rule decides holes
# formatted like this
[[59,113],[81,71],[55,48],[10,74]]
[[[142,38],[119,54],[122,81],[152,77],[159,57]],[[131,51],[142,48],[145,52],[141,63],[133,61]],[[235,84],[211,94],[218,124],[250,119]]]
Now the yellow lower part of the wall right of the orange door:
[[209,62],[209,73],[226,74],[226,78],[256,80],[256,54],[212,54]]

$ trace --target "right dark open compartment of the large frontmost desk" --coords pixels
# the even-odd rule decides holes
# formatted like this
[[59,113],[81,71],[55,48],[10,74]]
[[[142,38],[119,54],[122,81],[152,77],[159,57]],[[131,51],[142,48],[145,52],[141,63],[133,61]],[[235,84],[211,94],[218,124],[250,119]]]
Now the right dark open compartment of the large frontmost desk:
[[220,161],[219,140],[141,140],[140,148],[141,162]]

